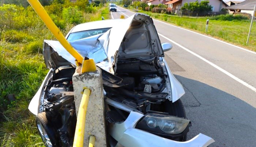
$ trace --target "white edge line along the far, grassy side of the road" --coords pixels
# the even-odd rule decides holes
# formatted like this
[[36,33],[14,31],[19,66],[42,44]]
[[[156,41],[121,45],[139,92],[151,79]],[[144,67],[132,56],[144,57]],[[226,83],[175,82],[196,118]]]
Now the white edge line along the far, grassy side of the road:
[[[123,8],[123,9],[124,9],[124,8]],[[132,12],[132,11],[130,11],[130,10],[128,10],[128,9],[125,9],[125,10],[127,10],[127,11],[129,11],[129,12]],[[135,13],[135,12],[132,12],[132,13]],[[127,16],[127,15],[126,15],[126,16]],[[128,17],[129,17],[129,16],[128,16]],[[153,19],[153,18],[152,18],[152,19]],[[153,20],[156,20],[156,19],[153,19]],[[156,21],[162,22],[162,21],[160,21],[160,20],[156,20]],[[168,23],[166,23],[166,22],[162,22],[162,23],[167,24],[167,25],[170,25],[170,26],[173,26],[173,27],[176,27],[176,28],[180,28],[180,27],[178,27],[178,26],[174,26],[174,25],[168,24]],[[200,33],[194,32],[194,31],[191,31],[191,30],[187,30],[187,29],[184,29],[184,28],[180,28],[180,29],[186,30],[186,31],[188,31],[188,32],[192,32],[192,33],[195,33],[195,34],[198,34],[198,35],[207,37],[207,38],[210,38],[210,39],[212,39],[212,40],[216,40],[216,41],[218,41],[218,42],[222,42],[222,43],[224,43],[224,44],[228,44],[228,45],[230,45],[230,46],[236,47],[236,48],[238,48],[238,49],[240,49],[240,50],[244,50],[244,51],[246,51],[246,52],[250,52],[250,53],[252,53],[252,54],[256,54],[256,52],[247,50],[247,49],[245,49],[245,48],[241,48],[240,46],[236,46],[236,45],[234,45],[234,44],[230,44],[230,43],[224,42],[224,41],[222,41],[222,40],[218,40],[218,39],[216,39],[216,38],[212,38],[212,37],[210,37],[210,36],[206,36],[206,35],[203,35],[203,34],[200,34]]]

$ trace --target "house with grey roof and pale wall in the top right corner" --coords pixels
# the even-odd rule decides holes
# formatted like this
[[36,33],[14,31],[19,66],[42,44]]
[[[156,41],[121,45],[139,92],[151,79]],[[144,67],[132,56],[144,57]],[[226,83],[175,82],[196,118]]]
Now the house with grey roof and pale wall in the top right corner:
[[243,2],[240,2],[239,4],[226,7],[226,9],[228,9],[229,13],[241,12],[248,13],[252,16],[255,5],[256,0],[245,0]]

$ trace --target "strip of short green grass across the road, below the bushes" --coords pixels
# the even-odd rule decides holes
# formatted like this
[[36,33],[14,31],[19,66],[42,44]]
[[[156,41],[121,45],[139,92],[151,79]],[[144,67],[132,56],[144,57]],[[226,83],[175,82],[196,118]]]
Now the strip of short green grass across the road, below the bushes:
[[[218,38],[231,44],[235,44],[237,46],[241,46],[249,50],[256,51],[256,21],[254,21],[252,26],[250,41],[248,44],[246,44],[250,28],[250,20],[243,20],[241,16],[236,16],[237,20],[228,21],[232,18],[230,18],[230,16],[225,17],[223,15],[198,18],[183,16],[181,18],[176,15],[156,14],[147,11],[140,12],[145,13],[151,16],[152,18],[163,20],[170,24],[194,30],[195,32],[199,32],[201,34],[210,35],[214,38]],[[210,22],[208,32],[206,33],[205,27],[207,19],[210,19]]]

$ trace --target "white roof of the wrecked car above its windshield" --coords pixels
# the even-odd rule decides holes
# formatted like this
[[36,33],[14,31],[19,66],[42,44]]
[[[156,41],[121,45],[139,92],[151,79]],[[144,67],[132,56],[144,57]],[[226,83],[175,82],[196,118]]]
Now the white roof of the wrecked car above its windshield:
[[94,30],[94,29],[100,29],[100,28],[112,28],[115,26],[118,22],[122,22],[123,19],[112,19],[112,20],[100,20],[95,22],[87,22],[84,24],[78,24],[75,26],[70,32],[81,32],[85,30]]

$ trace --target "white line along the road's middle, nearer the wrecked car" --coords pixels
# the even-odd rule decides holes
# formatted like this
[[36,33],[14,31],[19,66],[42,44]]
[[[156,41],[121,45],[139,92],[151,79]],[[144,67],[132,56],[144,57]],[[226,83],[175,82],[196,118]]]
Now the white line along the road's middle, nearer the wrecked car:
[[202,56],[200,56],[200,55],[198,55],[198,54],[192,52],[191,50],[188,50],[187,48],[185,48],[184,46],[178,44],[177,42],[174,42],[173,40],[170,40],[169,38],[167,38],[167,37],[164,36],[164,35],[159,34],[159,33],[158,33],[158,35],[161,36],[161,37],[163,37],[163,38],[165,38],[166,40],[169,40],[169,41],[172,42],[173,44],[176,44],[177,46],[179,46],[179,47],[182,48],[183,50],[186,50],[186,51],[189,52],[190,54],[192,54],[192,55],[194,55],[194,56],[200,58],[200,59],[203,60],[204,62],[206,62],[206,63],[210,64],[211,66],[213,66],[214,68],[216,68],[217,70],[220,70],[221,72],[223,72],[224,74],[228,75],[228,76],[231,77],[232,79],[238,81],[239,83],[241,83],[241,84],[245,85],[246,87],[252,89],[252,91],[255,91],[255,92],[256,92],[256,88],[255,88],[255,87],[253,87],[252,85],[249,85],[249,84],[246,83],[245,81],[242,81],[242,80],[239,79],[238,77],[236,77],[236,76],[230,74],[229,72],[227,72],[226,70],[220,68],[220,67],[217,66],[216,64],[214,64],[214,63],[212,63],[212,62],[206,60],[205,58],[203,58]]

